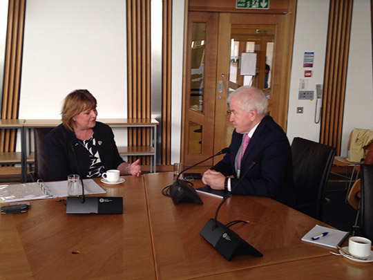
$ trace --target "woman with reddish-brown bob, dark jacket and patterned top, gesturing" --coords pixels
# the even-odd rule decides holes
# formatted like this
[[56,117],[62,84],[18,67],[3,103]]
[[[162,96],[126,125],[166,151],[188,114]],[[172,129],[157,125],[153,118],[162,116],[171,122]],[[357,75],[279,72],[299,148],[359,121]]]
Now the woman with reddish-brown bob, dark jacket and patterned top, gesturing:
[[96,106],[95,97],[85,89],[66,96],[62,124],[45,139],[48,180],[66,180],[69,174],[101,177],[108,169],[118,169],[121,175],[140,176],[140,160],[130,165],[119,156],[111,128],[96,122]]

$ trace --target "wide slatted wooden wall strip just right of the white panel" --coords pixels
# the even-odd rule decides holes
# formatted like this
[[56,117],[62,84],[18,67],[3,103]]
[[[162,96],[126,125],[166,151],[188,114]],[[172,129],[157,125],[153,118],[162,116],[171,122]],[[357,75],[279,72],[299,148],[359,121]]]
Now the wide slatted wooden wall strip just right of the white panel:
[[[127,1],[128,118],[151,118],[151,1]],[[149,128],[128,129],[129,146],[150,144]],[[129,157],[129,161],[135,157]],[[150,159],[142,158],[142,165]]]

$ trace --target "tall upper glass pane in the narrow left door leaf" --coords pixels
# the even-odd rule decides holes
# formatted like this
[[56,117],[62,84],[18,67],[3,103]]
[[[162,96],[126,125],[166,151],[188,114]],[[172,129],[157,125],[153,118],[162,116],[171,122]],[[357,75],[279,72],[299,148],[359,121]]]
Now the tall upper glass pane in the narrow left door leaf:
[[206,24],[193,23],[191,42],[191,100],[190,108],[203,111],[204,38]]

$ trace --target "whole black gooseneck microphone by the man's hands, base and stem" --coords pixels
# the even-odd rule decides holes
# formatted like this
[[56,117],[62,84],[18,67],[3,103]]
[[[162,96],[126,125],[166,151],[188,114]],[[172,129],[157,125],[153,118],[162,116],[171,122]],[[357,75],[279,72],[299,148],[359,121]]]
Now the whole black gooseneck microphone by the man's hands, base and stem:
[[189,185],[189,182],[186,182],[184,180],[180,180],[179,177],[181,174],[183,174],[185,171],[200,165],[202,162],[205,162],[206,160],[209,160],[210,158],[213,158],[215,156],[219,156],[222,153],[227,153],[229,151],[229,148],[224,148],[218,153],[216,153],[213,156],[210,156],[209,158],[205,158],[204,160],[195,163],[195,165],[191,165],[190,167],[184,169],[180,172],[178,177],[176,178],[175,182],[173,182],[172,185],[165,187],[162,189],[162,194],[165,196],[171,196],[173,203],[175,205],[178,205],[182,202],[190,202],[190,203],[197,203],[197,204],[203,204],[200,196],[198,196],[197,192],[195,192],[195,189]]

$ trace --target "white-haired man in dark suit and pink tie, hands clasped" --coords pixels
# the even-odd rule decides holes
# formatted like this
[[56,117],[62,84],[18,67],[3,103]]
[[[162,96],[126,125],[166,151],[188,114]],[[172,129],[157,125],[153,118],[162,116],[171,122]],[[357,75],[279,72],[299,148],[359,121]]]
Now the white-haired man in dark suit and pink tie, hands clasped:
[[227,102],[235,127],[229,152],[204,172],[202,182],[212,189],[267,196],[292,205],[295,194],[289,140],[267,115],[267,97],[256,88],[242,86],[229,95]]

